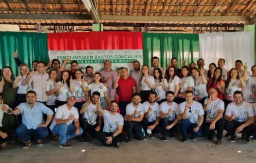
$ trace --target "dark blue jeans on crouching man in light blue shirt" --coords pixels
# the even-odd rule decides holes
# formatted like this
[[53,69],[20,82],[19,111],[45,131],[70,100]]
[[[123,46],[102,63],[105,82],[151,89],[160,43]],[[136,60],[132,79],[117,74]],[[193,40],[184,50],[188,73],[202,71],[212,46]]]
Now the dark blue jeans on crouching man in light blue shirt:
[[35,135],[37,140],[44,139],[48,135],[48,129],[46,127],[28,129],[27,126],[23,124],[20,124],[15,132],[17,136],[25,142],[30,140],[30,135]]

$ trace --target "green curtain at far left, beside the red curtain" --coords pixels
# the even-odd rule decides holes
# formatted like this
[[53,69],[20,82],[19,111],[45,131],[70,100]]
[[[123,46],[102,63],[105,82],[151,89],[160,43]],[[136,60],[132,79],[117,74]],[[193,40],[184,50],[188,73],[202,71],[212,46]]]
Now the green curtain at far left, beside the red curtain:
[[34,60],[49,62],[47,33],[0,32],[0,67],[11,66],[18,75],[13,53],[17,49],[18,58],[32,69]]

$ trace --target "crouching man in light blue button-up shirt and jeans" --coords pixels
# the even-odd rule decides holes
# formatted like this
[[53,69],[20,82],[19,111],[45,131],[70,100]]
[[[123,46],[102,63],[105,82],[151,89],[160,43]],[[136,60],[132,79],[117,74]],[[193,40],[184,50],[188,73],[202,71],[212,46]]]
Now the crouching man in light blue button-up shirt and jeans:
[[[28,148],[31,145],[31,134],[36,135],[37,145],[42,146],[42,139],[48,135],[47,126],[53,118],[53,111],[36,100],[36,92],[28,91],[27,102],[19,104],[13,111],[13,114],[22,115],[22,124],[16,129],[16,134],[24,141],[23,148]],[[47,114],[46,122],[44,122],[43,114]]]

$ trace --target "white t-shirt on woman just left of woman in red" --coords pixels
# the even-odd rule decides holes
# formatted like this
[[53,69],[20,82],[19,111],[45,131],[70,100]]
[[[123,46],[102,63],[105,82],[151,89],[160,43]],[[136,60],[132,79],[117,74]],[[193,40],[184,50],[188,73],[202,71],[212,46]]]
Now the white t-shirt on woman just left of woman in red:
[[195,96],[194,99],[196,101],[199,101],[205,96],[208,96],[207,90],[206,90],[206,84],[202,82],[202,76],[200,76],[197,80],[194,79],[194,82],[195,82],[195,86],[193,89],[193,94]]

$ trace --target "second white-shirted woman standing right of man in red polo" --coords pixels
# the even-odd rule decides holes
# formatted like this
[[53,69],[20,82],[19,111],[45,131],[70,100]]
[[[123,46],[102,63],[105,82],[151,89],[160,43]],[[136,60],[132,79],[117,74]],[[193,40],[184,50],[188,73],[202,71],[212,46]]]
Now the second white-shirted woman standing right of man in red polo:
[[163,74],[160,68],[154,69],[154,79],[155,79],[155,92],[157,94],[156,102],[160,105],[165,101],[165,92],[168,91],[167,80],[163,78]]

